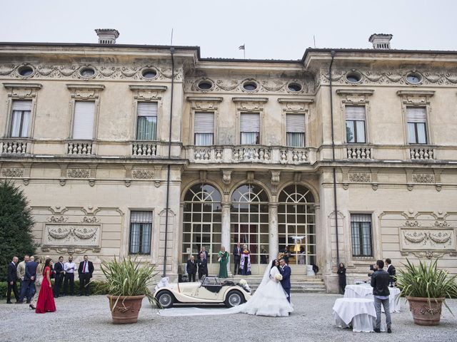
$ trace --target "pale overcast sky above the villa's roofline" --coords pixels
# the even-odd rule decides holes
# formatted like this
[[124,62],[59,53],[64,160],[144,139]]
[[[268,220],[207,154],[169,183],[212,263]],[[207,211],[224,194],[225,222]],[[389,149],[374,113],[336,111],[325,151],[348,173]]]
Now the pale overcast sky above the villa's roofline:
[[0,41],[200,46],[201,57],[296,60],[306,48],[457,51],[455,0],[0,0]]

